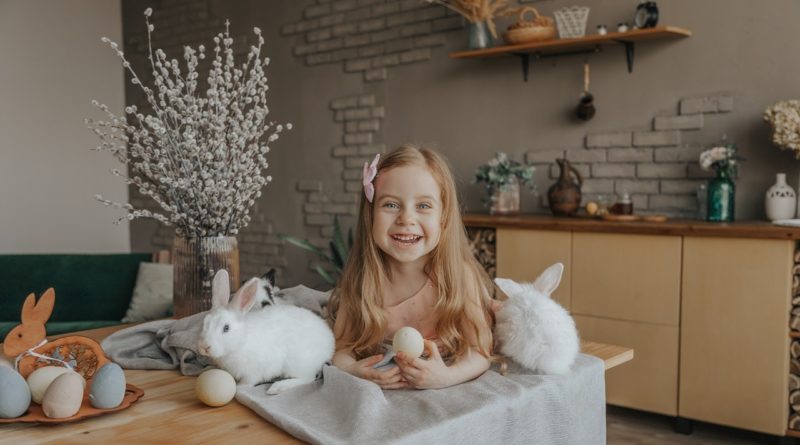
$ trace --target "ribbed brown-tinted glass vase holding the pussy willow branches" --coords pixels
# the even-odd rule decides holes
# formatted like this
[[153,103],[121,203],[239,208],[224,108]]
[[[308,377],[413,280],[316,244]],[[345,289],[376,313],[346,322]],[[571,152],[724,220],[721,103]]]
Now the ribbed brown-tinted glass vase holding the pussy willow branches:
[[239,246],[232,236],[185,238],[172,245],[175,318],[211,309],[211,282],[220,269],[228,271],[231,292],[239,288]]

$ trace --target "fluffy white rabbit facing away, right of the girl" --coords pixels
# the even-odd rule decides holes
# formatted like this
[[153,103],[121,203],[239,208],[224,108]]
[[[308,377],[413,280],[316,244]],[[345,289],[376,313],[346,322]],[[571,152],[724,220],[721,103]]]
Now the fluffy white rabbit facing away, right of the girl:
[[575,321],[550,299],[563,272],[564,265],[556,263],[533,283],[494,280],[508,296],[496,314],[500,353],[544,374],[569,372],[580,349]]

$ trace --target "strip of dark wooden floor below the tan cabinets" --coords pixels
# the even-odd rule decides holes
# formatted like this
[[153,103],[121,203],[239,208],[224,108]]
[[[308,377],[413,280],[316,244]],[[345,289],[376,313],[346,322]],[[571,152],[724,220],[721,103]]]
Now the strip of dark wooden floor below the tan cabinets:
[[[674,418],[609,406],[608,445],[777,445],[774,436],[695,422],[692,434],[673,428]],[[797,442],[797,441],[796,441]]]

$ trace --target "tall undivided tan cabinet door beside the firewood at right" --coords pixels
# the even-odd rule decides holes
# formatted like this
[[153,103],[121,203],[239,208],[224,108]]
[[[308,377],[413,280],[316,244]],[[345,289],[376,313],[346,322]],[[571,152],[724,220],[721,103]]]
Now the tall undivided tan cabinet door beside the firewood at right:
[[681,416],[786,431],[793,255],[791,240],[684,238]]

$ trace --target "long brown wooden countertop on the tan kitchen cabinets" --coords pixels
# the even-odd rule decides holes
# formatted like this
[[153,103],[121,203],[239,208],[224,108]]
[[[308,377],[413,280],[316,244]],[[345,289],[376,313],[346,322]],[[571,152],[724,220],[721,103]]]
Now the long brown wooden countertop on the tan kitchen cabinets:
[[469,227],[800,240],[800,228],[777,226],[768,221],[713,223],[693,219],[674,219],[665,222],[619,222],[588,217],[533,214],[499,216],[476,213],[466,214],[463,219],[464,224]]

